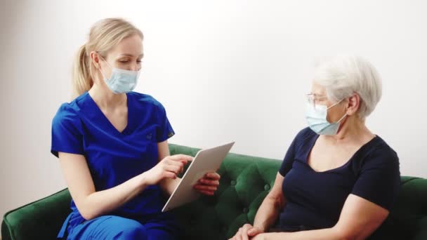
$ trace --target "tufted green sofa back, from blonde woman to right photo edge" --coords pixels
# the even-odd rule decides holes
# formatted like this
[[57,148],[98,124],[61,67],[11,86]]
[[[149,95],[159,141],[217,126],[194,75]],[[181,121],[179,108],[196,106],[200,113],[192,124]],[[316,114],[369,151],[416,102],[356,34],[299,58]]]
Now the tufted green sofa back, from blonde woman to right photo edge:
[[[170,149],[171,154],[192,156],[199,150],[179,145]],[[245,223],[252,224],[280,164],[275,159],[228,154],[218,171],[221,180],[216,194],[175,210],[183,239],[228,239]],[[402,176],[401,180],[398,201],[376,234],[386,239],[427,240],[427,179]]]

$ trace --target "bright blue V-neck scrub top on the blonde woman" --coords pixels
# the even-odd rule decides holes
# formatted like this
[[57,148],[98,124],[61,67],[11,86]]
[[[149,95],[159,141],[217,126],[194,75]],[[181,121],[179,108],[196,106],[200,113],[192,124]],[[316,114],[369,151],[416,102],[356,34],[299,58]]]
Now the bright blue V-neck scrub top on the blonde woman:
[[[157,100],[135,92],[126,96],[128,124],[122,132],[114,128],[87,92],[61,105],[53,118],[52,154],[84,155],[96,191],[120,185],[155,166],[157,143],[174,135],[166,111]],[[110,214],[140,218],[160,213],[165,202],[160,187],[153,185]],[[71,208],[68,232],[84,222],[74,201]]]

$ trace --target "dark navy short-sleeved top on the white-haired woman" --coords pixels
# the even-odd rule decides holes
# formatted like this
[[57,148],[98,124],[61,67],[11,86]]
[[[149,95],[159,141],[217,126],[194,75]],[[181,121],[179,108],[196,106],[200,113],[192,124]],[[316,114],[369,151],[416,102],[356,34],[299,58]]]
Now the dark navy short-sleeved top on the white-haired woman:
[[390,210],[400,189],[399,159],[379,136],[363,145],[339,168],[316,172],[308,155],[319,135],[304,128],[291,143],[280,174],[287,204],[281,229],[333,227],[349,194]]

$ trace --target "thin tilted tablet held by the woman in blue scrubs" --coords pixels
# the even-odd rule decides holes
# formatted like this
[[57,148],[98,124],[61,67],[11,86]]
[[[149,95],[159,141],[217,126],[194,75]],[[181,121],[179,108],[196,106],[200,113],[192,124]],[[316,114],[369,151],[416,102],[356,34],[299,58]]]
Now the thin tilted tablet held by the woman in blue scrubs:
[[173,190],[169,200],[164,205],[162,212],[187,204],[190,201],[195,201],[200,196],[199,192],[193,189],[197,180],[202,178],[206,173],[216,172],[234,144],[235,142],[230,142],[226,145],[203,149],[197,152],[187,171],[184,173],[183,178],[181,178],[178,186]]

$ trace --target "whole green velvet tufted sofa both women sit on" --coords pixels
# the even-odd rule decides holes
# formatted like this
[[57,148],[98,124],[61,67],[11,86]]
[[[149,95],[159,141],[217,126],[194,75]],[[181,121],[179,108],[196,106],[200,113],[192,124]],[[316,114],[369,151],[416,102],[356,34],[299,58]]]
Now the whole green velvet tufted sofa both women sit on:
[[[171,154],[195,156],[199,149],[170,145]],[[281,161],[228,154],[218,173],[215,196],[202,196],[174,210],[182,225],[182,239],[228,239],[246,222],[253,222],[268,194]],[[381,190],[381,189],[379,189]],[[70,212],[67,189],[4,215],[1,236],[8,239],[55,239]],[[427,239],[427,179],[402,177],[402,191],[387,220],[390,239]],[[357,216],[356,216],[357,217]]]

